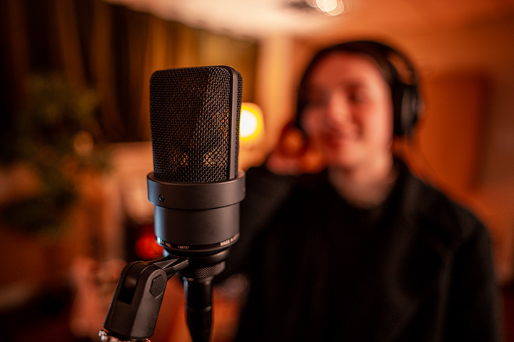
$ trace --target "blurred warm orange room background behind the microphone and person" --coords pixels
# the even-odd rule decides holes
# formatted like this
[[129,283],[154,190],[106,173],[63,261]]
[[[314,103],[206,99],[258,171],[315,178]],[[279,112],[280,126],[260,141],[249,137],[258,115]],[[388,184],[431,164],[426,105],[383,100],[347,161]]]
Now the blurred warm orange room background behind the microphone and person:
[[[119,271],[161,253],[149,78],[225,64],[257,108],[241,167],[293,115],[322,46],[381,39],[410,56],[426,110],[403,152],[480,216],[514,341],[513,0],[3,0],[0,3],[0,336],[98,341]],[[243,131],[243,128],[242,128]],[[231,341],[244,279],[218,286],[213,341]],[[188,341],[176,279],[152,341]]]

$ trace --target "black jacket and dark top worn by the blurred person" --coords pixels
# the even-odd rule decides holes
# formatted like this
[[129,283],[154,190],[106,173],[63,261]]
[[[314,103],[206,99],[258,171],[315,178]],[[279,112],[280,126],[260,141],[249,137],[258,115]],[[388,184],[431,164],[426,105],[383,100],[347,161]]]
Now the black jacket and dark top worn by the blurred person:
[[500,341],[485,227],[397,164],[375,209],[352,207],[323,172],[248,172],[227,261],[251,279],[238,341]]

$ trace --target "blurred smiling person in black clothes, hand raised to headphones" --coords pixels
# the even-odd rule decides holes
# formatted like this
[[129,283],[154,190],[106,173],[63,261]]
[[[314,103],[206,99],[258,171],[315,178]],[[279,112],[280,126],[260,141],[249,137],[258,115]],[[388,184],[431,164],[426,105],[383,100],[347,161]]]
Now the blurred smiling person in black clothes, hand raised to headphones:
[[[500,341],[488,232],[393,154],[418,121],[417,78],[373,41],[308,65],[295,119],[307,147],[247,172],[227,260],[251,284],[238,341]],[[323,170],[284,175],[313,150]]]

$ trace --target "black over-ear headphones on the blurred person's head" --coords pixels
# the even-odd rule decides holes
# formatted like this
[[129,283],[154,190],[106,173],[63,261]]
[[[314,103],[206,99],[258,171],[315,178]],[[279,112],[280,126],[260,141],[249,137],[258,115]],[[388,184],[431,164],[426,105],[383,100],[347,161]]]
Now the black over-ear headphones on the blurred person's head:
[[296,126],[301,129],[301,115],[308,104],[305,95],[306,83],[312,69],[323,57],[336,52],[363,53],[376,61],[391,89],[394,117],[393,135],[397,137],[410,135],[423,110],[423,100],[418,90],[418,73],[404,53],[377,41],[349,41],[323,48],[316,53],[306,68],[298,89]]

